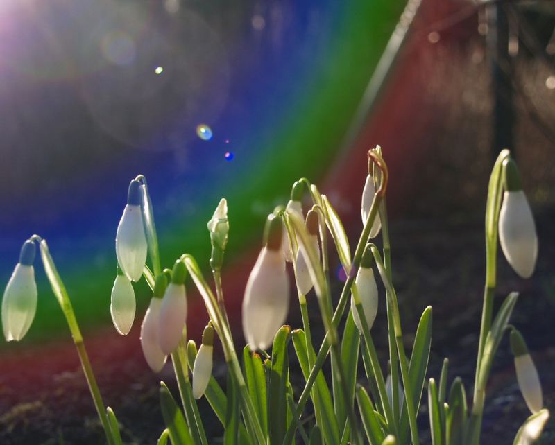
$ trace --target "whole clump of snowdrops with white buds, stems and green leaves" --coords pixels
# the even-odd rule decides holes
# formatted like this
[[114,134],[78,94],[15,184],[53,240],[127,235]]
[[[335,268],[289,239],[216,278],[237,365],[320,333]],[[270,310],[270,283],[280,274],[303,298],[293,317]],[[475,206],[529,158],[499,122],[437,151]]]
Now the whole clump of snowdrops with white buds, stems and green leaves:
[[[293,184],[287,206],[276,208],[266,220],[263,247],[246,283],[242,306],[248,344],[237,351],[221,286],[230,227],[227,202],[221,200],[208,222],[211,285],[189,254],[176,259],[171,269],[162,269],[146,180],[139,175],[131,181],[128,202],[117,228],[118,267],[110,311],[117,331],[128,333],[135,319],[132,282],[146,279],[153,295],[142,321],[142,350],[153,372],[160,372],[167,356],[171,356],[180,399],[176,401],[161,383],[160,405],[166,428],[160,426],[163,431],[158,444],[167,444],[168,440],[174,445],[208,443],[196,403],[204,396],[223,425],[225,444],[418,445],[416,417],[427,383],[432,444],[477,445],[490,369],[505,334],[510,336],[516,377],[531,411],[516,433],[514,444],[531,444],[538,439],[549,412],[543,408],[538,373],[526,342],[509,324],[518,295],[509,294],[493,313],[498,240],[505,258],[523,278],[533,273],[538,250],[531,210],[509,151],[501,152],[495,162],[488,189],[486,286],[471,408],[467,405],[470,393],[461,379],[454,378],[449,385],[447,358],[438,382],[434,378],[426,381],[432,338],[431,306],[422,313],[411,350],[404,346],[398,299],[391,281],[387,184],[387,166],[377,146],[368,152],[368,177],[361,198],[364,228],[354,254],[327,196],[305,178]],[[305,195],[311,199],[306,216],[302,207]],[[333,240],[331,246],[327,243],[328,232]],[[373,241],[380,234],[381,249]],[[120,445],[120,426],[113,410],[105,408],[69,296],[49,247],[40,236],[33,235],[24,243],[4,292],[3,333],[8,341],[21,340],[33,321],[37,306],[33,270],[36,244],[46,277],[67,319],[108,444]],[[347,277],[335,306],[329,280],[330,254],[339,256]],[[302,327],[296,329],[284,325],[290,297],[287,263],[291,263],[294,272],[302,315]],[[375,272],[386,295],[378,293]],[[202,295],[208,314],[198,349],[186,337],[188,276]],[[325,326],[325,337],[319,345],[312,340],[307,295],[318,300]],[[388,363],[379,363],[371,330],[378,304],[387,308]],[[212,376],[215,341],[221,342],[228,369],[225,392]],[[305,378],[300,394],[294,394],[289,381],[290,354],[296,354]],[[357,374],[360,358],[365,376]],[[331,375],[322,370],[328,359]],[[361,381],[364,383],[357,384]],[[311,408],[307,406],[309,402]]]

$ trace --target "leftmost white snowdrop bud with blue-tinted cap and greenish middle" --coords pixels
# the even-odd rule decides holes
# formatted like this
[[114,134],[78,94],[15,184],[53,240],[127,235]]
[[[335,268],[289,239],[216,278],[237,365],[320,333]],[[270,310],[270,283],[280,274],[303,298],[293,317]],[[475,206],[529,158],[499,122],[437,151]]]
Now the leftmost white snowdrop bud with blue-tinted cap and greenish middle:
[[33,241],[25,241],[19,263],[4,290],[2,299],[2,326],[8,342],[21,340],[27,333],[37,311],[37,283],[35,283],[36,247]]

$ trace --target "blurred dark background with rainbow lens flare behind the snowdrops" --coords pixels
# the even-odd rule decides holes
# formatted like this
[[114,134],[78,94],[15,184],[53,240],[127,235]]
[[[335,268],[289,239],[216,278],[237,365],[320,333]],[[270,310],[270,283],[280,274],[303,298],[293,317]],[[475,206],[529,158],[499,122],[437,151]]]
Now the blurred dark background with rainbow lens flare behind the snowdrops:
[[[2,0],[0,73],[0,282],[28,236],[46,238],[129,443],[152,443],[162,430],[160,376],[147,369],[138,339],[144,283],[135,286],[131,333],[121,338],[110,320],[129,181],[148,179],[166,266],[183,252],[207,265],[206,223],[227,198],[223,288],[241,338],[244,282],[266,215],[306,176],[354,243],[366,151],[376,144],[391,174],[393,272],[407,333],[433,304],[430,372],[450,356],[468,386],[488,175],[497,152],[513,150],[540,256],[525,282],[499,257],[498,297],[521,292],[513,322],[553,403],[552,1]],[[1,442],[100,443],[65,320],[36,266],[33,326],[18,344],[0,342]],[[207,315],[192,288],[189,308],[198,342]],[[296,326],[294,306],[290,315]],[[377,338],[385,333],[384,317],[375,329]],[[385,334],[377,344],[386,347]],[[513,437],[527,417],[508,348],[498,361],[484,421],[486,437],[497,439]],[[506,417],[515,424],[498,422]]]

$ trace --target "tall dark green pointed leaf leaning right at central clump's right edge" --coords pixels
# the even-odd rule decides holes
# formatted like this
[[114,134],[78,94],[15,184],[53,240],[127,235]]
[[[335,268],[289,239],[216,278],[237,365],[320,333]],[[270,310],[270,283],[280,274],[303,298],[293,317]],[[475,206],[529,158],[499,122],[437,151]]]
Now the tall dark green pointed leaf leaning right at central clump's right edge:
[[[411,361],[409,363],[409,381],[413,395],[414,403],[416,403],[416,412],[420,409],[422,401],[422,391],[424,390],[424,382],[429,362],[429,350],[432,345],[432,306],[425,308],[412,347]],[[409,414],[407,412],[407,404],[402,404],[401,421],[400,421],[400,443],[407,444],[410,440]]]

